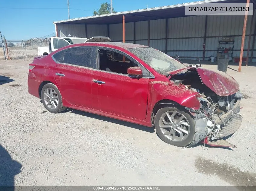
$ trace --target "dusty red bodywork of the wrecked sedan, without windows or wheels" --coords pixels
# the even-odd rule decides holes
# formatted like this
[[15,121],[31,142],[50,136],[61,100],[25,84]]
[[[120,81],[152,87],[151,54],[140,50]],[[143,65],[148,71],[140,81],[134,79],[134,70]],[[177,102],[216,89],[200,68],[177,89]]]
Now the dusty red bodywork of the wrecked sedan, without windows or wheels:
[[[95,68],[59,64],[52,59],[52,55],[59,51],[79,46],[121,51],[145,67],[151,73],[151,77],[131,78],[128,75],[95,69],[97,65],[97,56],[95,55],[92,56],[94,59],[91,59]],[[35,58],[30,64],[36,67],[29,71],[28,92],[40,98],[40,88],[46,83],[53,83],[60,90],[65,107],[148,127],[153,126],[152,114],[158,104],[181,105],[195,117],[196,129],[191,145],[203,140],[207,135],[208,119],[206,120],[202,116],[199,109],[201,109],[201,102],[205,101],[205,98],[186,85],[170,80],[171,77],[156,72],[138,56],[127,50],[142,47],[147,46],[109,42],[82,43],[66,46],[47,56]],[[201,82],[219,96],[235,94],[239,89],[238,83],[232,77],[204,68],[186,67],[170,72],[170,76],[185,71],[196,71]],[[65,73],[65,77],[56,76],[55,73]],[[105,84],[97,84],[94,81],[103,81]],[[231,117],[232,115],[227,120],[231,120]]]

